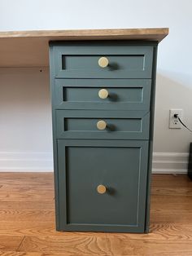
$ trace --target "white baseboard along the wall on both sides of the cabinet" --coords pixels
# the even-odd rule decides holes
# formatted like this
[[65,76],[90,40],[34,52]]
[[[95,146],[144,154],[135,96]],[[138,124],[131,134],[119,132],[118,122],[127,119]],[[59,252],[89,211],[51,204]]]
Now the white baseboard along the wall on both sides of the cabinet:
[[[152,173],[186,174],[188,153],[154,152]],[[0,171],[53,171],[51,152],[0,152]]]

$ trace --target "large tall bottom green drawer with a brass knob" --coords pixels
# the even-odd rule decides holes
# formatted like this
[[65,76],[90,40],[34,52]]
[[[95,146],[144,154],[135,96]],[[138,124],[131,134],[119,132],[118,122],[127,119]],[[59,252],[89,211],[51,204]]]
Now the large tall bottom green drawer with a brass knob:
[[59,139],[61,230],[144,232],[147,154],[147,141]]

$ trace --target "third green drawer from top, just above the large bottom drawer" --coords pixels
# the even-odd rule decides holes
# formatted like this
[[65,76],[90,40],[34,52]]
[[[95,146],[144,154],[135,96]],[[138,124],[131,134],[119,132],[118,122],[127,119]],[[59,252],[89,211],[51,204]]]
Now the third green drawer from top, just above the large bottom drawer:
[[149,139],[150,113],[57,110],[58,139]]

